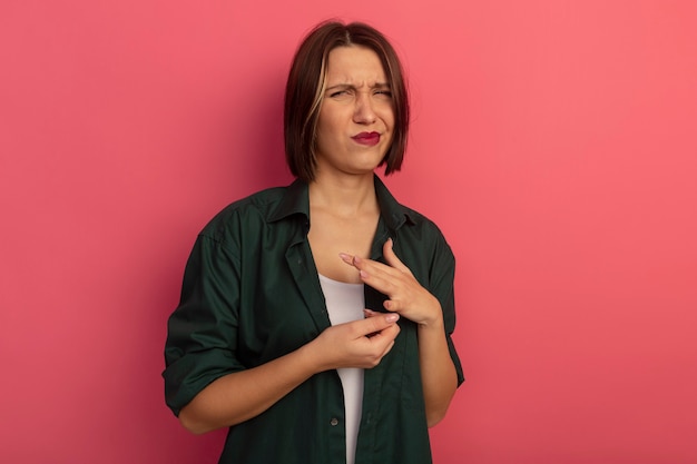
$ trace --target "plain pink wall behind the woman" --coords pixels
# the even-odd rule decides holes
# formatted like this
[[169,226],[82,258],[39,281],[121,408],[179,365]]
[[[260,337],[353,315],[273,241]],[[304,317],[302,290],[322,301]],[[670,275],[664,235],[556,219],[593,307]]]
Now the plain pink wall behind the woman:
[[2,1],[0,462],[216,462],[165,320],[203,225],[289,181],[285,75],[333,16],[403,56],[387,185],[459,258],[435,463],[697,462],[691,0]]

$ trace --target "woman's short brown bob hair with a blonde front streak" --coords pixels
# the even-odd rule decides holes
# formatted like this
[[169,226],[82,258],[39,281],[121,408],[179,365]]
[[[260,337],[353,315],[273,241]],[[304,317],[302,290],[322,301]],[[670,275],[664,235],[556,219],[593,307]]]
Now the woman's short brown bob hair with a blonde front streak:
[[402,65],[394,48],[381,32],[367,24],[327,21],[316,26],[298,47],[285,92],[286,162],[295,177],[307,182],[315,177],[317,118],[326,87],[330,51],[351,46],[373,50],[387,76],[394,129],[392,142],[380,166],[385,166],[385,175],[399,171],[402,167],[409,134],[409,96]]

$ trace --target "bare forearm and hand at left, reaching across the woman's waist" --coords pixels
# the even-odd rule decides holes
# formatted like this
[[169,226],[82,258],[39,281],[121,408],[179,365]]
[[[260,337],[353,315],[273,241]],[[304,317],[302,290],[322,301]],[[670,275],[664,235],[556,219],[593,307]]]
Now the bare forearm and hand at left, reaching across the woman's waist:
[[181,408],[179,421],[196,434],[228,427],[263,413],[316,373],[375,367],[394,345],[397,319],[390,314],[336,325],[295,352],[219,377]]

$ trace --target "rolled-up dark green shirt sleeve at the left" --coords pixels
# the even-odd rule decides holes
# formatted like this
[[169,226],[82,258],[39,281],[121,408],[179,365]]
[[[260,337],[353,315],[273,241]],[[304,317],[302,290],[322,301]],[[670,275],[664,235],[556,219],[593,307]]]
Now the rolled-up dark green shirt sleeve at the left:
[[165,399],[177,416],[213,381],[245,368],[235,356],[238,265],[238,257],[224,244],[198,236],[165,345]]

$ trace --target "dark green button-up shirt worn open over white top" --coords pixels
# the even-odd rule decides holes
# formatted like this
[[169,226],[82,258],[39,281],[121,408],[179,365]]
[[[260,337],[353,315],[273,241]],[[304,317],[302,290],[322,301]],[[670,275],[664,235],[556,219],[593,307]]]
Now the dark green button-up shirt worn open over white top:
[[[454,257],[438,227],[400,204],[375,177],[381,218],[371,258],[396,256],[441,303],[450,354]],[[216,378],[258,366],[314,339],[330,318],[307,231],[307,185],[296,180],[236,201],[200,233],[186,266],[181,302],[169,318],[165,394],[175,414]],[[365,306],[386,296],[365,286]],[[416,326],[402,318],[392,351],[365,371],[356,464],[426,464],[431,450]],[[229,428],[220,463],[345,462],[344,404],[336,371],[316,374],[266,412]]]

